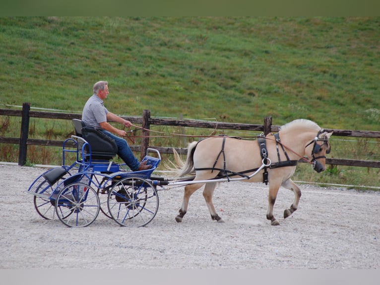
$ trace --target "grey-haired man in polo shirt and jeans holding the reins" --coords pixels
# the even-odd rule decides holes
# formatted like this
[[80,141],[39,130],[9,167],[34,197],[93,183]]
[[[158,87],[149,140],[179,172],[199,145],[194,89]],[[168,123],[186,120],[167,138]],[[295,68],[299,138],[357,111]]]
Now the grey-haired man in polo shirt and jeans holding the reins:
[[[87,100],[83,108],[82,121],[84,124],[86,126],[100,128],[104,134],[114,139],[118,146],[118,155],[127,163],[132,171],[140,171],[151,168],[152,165],[146,165],[146,161],[140,163],[130,150],[127,141],[118,137],[126,136],[126,131],[119,130],[107,122],[118,122],[126,127],[130,127],[132,125],[129,121],[109,112],[106,107],[104,107],[103,100],[106,99],[109,94],[108,82],[96,82],[94,84],[93,91],[94,94]],[[118,136],[115,136],[112,133]]]

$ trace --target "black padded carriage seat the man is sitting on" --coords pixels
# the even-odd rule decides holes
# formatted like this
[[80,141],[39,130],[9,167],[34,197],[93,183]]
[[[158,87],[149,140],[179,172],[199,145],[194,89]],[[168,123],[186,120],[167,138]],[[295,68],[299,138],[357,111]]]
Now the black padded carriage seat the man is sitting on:
[[[103,134],[94,127],[88,127],[82,120],[72,119],[75,129],[75,135],[83,138],[91,145],[92,159],[112,159],[118,152],[118,146],[115,141]],[[88,154],[88,147],[85,147],[85,153]]]

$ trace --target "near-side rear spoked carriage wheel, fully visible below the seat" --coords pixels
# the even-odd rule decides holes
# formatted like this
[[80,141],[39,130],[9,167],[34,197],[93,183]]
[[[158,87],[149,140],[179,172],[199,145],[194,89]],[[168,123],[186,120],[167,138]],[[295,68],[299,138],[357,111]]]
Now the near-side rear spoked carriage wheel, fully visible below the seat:
[[90,225],[100,210],[96,191],[84,183],[65,186],[58,194],[55,204],[58,217],[69,227]]

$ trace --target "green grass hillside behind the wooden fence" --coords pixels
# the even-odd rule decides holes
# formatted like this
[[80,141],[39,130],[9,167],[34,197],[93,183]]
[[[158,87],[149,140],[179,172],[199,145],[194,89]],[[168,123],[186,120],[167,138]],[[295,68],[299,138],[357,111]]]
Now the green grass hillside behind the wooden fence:
[[[2,17],[0,104],[81,112],[108,80],[105,105],[121,115],[379,131],[379,38],[380,17]],[[19,136],[17,120],[3,133]],[[34,138],[72,131],[34,120]],[[331,156],[352,157],[356,142],[338,139]],[[378,143],[358,158],[378,160]],[[365,176],[379,186],[376,171]]]

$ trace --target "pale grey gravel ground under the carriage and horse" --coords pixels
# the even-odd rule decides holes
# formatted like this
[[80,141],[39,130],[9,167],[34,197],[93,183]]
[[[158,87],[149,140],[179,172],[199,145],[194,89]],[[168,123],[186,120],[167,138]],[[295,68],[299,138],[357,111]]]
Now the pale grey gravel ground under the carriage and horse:
[[0,165],[0,269],[380,269],[380,192],[301,185],[299,209],[283,219],[293,193],[280,189],[271,226],[264,184],[221,183],[214,205],[225,223],[211,220],[201,190],[177,223],[181,186],[159,191],[145,227],[100,213],[68,228],[40,217],[27,193],[46,170]]

